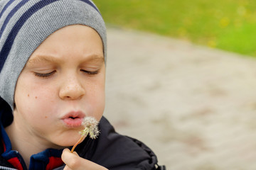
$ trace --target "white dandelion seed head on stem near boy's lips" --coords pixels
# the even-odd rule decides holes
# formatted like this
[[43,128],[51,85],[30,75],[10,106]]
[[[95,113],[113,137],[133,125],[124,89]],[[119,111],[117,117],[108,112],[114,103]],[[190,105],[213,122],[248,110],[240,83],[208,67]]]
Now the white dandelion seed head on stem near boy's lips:
[[84,120],[82,121],[82,125],[85,127],[83,130],[81,130],[79,133],[81,135],[80,139],[78,140],[78,142],[75,143],[75,145],[73,146],[73,148],[71,149],[71,153],[74,152],[75,147],[78,146],[78,144],[80,144],[80,142],[82,142],[82,140],[85,140],[85,137],[87,137],[87,135],[90,135],[91,139],[96,139],[96,137],[99,135],[100,131],[98,130],[98,121],[93,118],[93,117],[86,117],[84,118]]

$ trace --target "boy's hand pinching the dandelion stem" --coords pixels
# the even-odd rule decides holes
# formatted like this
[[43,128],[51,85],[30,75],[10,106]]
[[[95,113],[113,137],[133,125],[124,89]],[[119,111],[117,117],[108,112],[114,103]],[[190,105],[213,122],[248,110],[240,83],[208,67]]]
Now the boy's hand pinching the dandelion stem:
[[66,164],[64,170],[107,170],[103,166],[79,157],[76,152],[71,153],[70,149],[63,150],[61,159]]

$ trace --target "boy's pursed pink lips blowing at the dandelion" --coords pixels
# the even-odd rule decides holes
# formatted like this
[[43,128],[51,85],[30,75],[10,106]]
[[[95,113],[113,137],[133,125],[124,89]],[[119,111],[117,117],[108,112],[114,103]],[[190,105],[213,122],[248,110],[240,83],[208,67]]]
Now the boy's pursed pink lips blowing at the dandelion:
[[79,128],[82,125],[82,120],[84,118],[85,113],[72,111],[61,118],[61,120],[67,128]]

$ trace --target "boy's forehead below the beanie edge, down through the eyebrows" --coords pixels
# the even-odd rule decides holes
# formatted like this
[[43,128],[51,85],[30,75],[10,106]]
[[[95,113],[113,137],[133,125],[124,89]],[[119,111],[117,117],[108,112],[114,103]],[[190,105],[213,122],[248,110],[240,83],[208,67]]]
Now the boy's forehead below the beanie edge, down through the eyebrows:
[[46,38],[33,52],[28,63],[70,59],[104,61],[100,35],[87,26],[66,26]]

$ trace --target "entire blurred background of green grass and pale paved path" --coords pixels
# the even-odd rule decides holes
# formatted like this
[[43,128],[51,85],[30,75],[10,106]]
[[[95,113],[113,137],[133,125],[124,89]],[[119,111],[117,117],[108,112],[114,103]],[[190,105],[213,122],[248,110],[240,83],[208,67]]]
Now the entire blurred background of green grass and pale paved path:
[[117,132],[167,169],[256,169],[256,1],[94,2]]

